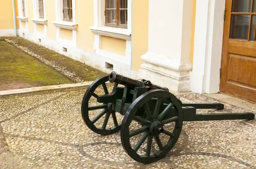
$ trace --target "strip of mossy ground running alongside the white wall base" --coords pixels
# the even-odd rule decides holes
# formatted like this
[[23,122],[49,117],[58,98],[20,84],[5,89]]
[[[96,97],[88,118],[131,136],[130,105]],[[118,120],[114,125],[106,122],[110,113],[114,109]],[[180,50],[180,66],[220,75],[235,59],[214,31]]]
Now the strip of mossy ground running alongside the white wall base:
[[58,54],[55,51],[52,51],[21,37],[6,37],[6,39],[12,39],[16,41],[18,45],[29,48],[29,50],[31,50],[33,53],[54,62],[55,65],[65,67],[68,71],[76,73],[76,76],[80,77],[84,81],[94,81],[97,78],[106,75],[106,73],[100,70],[92,68],[67,56]]

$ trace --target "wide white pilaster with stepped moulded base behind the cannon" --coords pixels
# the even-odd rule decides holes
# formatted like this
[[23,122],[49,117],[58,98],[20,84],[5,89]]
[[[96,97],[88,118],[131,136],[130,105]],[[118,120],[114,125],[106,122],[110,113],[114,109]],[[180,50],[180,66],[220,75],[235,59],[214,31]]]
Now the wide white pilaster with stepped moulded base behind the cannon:
[[174,91],[188,91],[192,0],[149,0],[148,52],[138,76]]

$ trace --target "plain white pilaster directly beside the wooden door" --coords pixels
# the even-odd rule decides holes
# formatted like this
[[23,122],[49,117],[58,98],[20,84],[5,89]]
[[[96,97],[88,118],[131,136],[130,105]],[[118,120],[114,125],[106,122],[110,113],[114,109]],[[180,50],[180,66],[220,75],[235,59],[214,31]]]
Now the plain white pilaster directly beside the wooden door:
[[191,91],[217,93],[220,85],[225,1],[197,0]]

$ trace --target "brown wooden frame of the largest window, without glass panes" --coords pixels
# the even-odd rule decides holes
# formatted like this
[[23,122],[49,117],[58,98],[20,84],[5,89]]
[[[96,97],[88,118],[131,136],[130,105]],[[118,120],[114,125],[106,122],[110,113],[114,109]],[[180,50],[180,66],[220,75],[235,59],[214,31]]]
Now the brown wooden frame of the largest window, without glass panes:
[[126,6],[126,8],[124,8],[124,10],[127,11],[127,14],[125,12],[125,16],[127,15],[127,21],[125,21],[126,25],[120,25],[119,24],[120,0],[116,0],[116,24],[107,23],[107,1],[108,0],[105,0],[105,26],[117,27],[117,28],[128,28],[128,0],[125,0],[125,4],[127,2],[127,6]]

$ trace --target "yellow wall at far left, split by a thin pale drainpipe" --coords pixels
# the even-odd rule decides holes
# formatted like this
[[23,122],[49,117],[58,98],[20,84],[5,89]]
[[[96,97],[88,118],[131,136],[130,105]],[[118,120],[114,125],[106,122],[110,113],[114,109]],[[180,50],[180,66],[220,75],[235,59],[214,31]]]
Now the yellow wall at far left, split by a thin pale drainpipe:
[[[0,29],[13,29],[13,15],[12,15],[12,0],[0,0]],[[15,12],[18,16],[18,4],[15,0]],[[17,28],[19,28],[19,22],[16,19]]]

